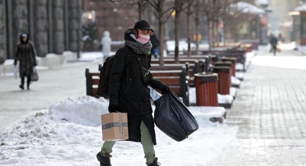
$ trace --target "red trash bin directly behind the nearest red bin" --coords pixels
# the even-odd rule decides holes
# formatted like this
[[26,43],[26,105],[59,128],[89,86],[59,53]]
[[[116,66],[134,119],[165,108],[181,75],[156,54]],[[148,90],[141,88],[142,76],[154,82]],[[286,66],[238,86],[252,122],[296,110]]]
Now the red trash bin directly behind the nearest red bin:
[[231,82],[231,67],[215,66],[213,72],[218,74],[218,93],[230,94]]

